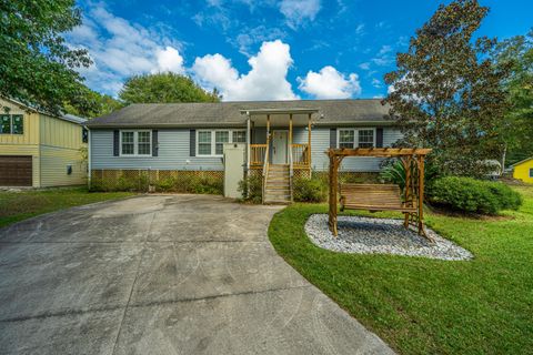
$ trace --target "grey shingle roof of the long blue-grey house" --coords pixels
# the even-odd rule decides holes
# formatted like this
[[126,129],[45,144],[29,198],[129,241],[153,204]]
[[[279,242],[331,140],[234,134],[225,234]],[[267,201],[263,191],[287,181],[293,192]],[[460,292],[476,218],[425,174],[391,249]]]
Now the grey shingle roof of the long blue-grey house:
[[240,101],[218,103],[138,103],[87,122],[90,128],[111,126],[194,126],[242,125],[247,116],[243,110],[319,110],[323,115],[318,124],[381,123],[392,124],[386,119],[389,108],[381,100],[295,100],[295,101]]

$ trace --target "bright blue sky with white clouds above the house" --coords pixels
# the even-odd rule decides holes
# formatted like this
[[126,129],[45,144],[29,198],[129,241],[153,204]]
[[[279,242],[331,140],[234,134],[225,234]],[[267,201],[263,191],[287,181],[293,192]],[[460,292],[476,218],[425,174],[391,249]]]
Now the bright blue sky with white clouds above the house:
[[[93,64],[93,90],[117,97],[134,74],[172,71],[224,101],[381,98],[395,53],[450,1],[79,0],[83,23],[67,34]],[[532,0],[481,0],[477,36],[533,27]]]

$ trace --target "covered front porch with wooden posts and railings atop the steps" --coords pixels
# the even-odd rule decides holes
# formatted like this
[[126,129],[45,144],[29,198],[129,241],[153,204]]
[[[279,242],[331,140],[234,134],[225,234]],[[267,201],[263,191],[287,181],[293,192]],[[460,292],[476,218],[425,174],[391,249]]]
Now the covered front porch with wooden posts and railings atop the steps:
[[248,125],[248,169],[289,165],[311,170],[311,130],[318,110],[243,110]]

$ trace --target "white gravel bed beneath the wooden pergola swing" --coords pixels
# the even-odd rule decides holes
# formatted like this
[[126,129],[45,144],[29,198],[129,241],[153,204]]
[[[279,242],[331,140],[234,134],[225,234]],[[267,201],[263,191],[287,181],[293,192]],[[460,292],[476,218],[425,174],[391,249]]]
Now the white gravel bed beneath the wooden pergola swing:
[[343,253],[393,254],[440,260],[471,260],[472,253],[443,239],[431,229],[431,243],[413,230],[405,230],[403,221],[360,216],[339,216],[336,237],[328,229],[328,214],[313,214],[305,223],[305,233],[318,246]]

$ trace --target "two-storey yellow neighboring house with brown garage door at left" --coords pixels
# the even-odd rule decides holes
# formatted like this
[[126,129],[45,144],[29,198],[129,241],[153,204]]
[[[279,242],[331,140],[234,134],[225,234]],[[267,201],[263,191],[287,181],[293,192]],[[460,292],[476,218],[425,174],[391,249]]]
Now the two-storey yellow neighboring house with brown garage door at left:
[[52,116],[0,98],[0,186],[87,183],[84,121]]

